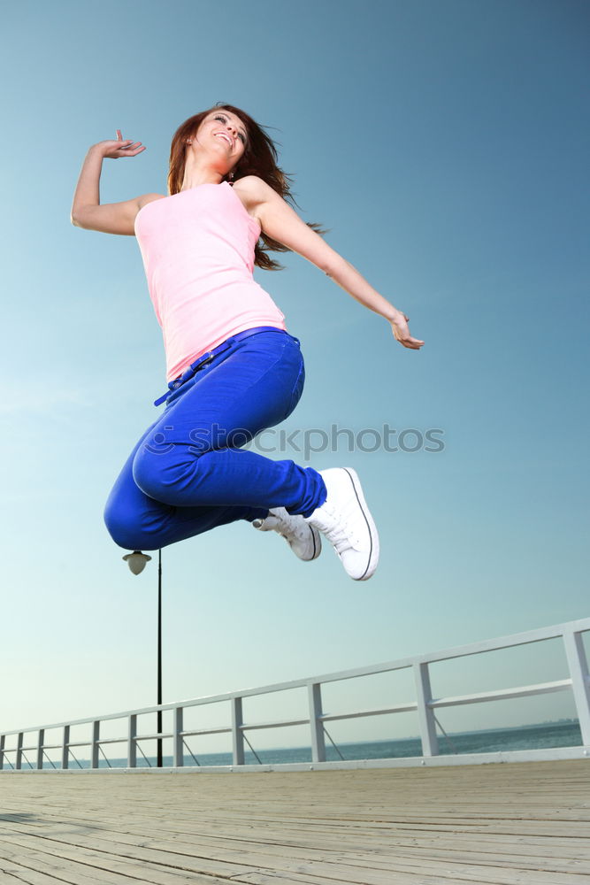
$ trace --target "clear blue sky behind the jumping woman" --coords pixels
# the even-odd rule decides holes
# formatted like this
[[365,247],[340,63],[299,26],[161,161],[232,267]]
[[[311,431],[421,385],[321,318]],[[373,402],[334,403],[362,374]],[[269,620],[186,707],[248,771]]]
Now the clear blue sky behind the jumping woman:
[[[589,19],[578,0],[4,11],[3,728],[155,700],[156,569],[127,571],[102,514],[164,350],[134,239],[69,212],[88,146],[117,128],[147,150],[105,161],[103,202],[165,193],[174,130],[217,101],[268,127],[303,219],[425,340],[403,349],[280,254],[256,279],[302,341],[287,426],[438,428],[444,449],[274,456],[356,468],[371,581],[246,523],[167,548],[165,701],[588,615]],[[543,678],[563,678],[549,658]],[[499,673],[536,681],[539,661]],[[498,724],[571,714],[543,704]]]

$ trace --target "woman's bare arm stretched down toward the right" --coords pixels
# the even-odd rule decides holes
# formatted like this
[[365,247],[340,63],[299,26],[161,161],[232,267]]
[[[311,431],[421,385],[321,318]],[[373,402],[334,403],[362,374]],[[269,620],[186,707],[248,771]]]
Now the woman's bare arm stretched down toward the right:
[[356,268],[333,250],[315,230],[308,227],[286,200],[265,181],[257,175],[248,175],[240,179],[240,184],[248,190],[252,208],[265,234],[307,258],[359,304],[385,317],[391,324],[396,340],[404,347],[410,350],[419,350],[422,347],[424,342],[410,335],[410,318],[379,295]]

